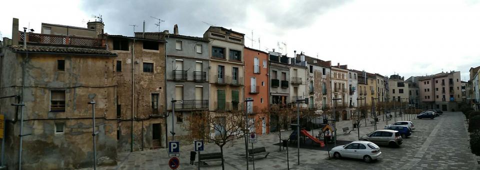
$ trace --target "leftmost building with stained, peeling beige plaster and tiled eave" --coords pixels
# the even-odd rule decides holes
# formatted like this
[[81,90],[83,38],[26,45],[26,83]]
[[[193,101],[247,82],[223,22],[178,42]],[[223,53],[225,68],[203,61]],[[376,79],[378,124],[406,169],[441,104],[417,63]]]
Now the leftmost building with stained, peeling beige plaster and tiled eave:
[[[91,167],[90,101],[96,102],[97,163],[116,164],[116,101],[112,100],[118,87],[114,76],[116,54],[105,50],[101,42],[97,38],[33,32],[25,36],[18,30],[18,19],[13,18],[11,44],[3,43],[2,47],[0,81],[8,169],[18,169],[19,136],[27,134],[22,137],[22,169]],[[23,103],[23,112],[10,105],[14,103]]]

